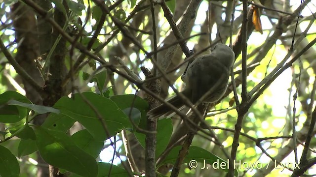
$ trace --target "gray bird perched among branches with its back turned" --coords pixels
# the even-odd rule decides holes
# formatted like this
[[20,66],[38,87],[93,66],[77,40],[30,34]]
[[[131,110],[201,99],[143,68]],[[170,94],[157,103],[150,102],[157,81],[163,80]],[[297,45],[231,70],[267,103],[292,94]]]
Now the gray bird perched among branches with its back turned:
[[[228,79],[235,61],[235,54],[225,44],[216,44],[209,55],[195,59],[188,67],[181,79],[186,87],[181,93],[193,104],[203,97],[202,103],[213,103],[218,101],[225,93],[228,86]],[[214,88],[213,88],[214,87]],[[210,90],[210,91],[209,91]],[[204,94],[207,94],[203,96]],[[183,100],[174,95],[168,98],[170,104],[179,110],[185,105]],[[150,119],[169,118],[174,115],[168,106],[161,104],[147,113]]]

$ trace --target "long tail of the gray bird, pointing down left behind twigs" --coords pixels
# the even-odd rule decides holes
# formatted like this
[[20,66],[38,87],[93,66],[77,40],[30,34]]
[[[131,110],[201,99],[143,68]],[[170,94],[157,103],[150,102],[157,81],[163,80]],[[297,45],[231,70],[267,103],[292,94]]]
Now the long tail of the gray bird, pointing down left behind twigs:
[[[189,99],[191,98],[189,95],[189,91],[183,90],[181,93],[184,94]],[[171,105],[173,105],[174,107],[176,107],[179,111],[185,107],[183,104],[183,100],[178,95],[171,96],[166,101],[170,103]],[[158,107],[150,110],[147,113],[147,116],[149,116],[149,119],[153,120],[156,118],[170,118],[174,114],[175,112],[169,106],[165,104],[161,104]]]

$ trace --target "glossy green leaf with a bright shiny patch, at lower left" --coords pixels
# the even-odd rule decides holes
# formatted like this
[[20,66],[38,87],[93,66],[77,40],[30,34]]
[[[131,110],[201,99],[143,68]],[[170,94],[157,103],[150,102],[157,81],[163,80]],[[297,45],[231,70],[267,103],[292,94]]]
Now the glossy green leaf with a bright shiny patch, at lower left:
[[37,126],[35,134],[36,144],[45,162],[84,177],[97,176],[95,159],[77,147],[65,133]]

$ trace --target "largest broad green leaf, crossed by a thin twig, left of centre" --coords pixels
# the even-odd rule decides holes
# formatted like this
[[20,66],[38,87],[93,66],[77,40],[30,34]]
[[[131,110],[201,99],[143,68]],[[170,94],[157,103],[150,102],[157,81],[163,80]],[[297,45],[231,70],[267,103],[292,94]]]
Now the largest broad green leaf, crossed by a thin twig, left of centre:
[[112,100],[92,92],[83,92],[82,95],[102,117],[109,136],[95,110],[91,109],[79,93],[74,94],[72,98],[62,97],[54,107],[60,110],[61,115],[67,115],[81,123],[97,141],[104,141],[122,129],[131,127],[127,116]]

